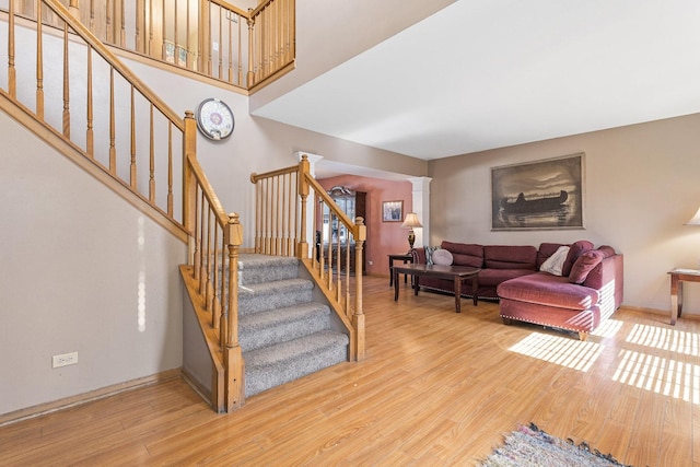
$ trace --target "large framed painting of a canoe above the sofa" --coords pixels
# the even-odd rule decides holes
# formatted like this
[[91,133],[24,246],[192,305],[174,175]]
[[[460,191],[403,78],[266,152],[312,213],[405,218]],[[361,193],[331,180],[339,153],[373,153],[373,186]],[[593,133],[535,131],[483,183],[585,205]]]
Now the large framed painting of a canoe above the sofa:
[[491,167],[491,230],[583,229],[584,155]]

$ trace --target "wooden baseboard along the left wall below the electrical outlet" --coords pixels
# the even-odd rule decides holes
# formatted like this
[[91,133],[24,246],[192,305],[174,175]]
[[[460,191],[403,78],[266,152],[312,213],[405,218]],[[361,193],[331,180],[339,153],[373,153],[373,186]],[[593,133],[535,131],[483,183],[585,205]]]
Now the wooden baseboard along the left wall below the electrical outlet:
[[114,384],[112,386],[102,387],[100,389],[91,390],[89,393],[79,394],[77,396],[70,396],[62,399],[54,400],[51,402],[39,404],[37,406],[27,407],[25,409],[15,410],[13,412],[2,413],[0,415],[0,427],[4,427],[7,424],[15,423],[34,417],[44,416],[46,413],[56,412],[69,407],[79,406],[81,404],[91,402],[93,400],[103,399],[105,397],[114,396],[115,394],[136,389],[142,386],[148,386],[154,383],[173,380],[175,377],[182,377],[182,369],[167,370],[151,376],[131,380],[124,383]]

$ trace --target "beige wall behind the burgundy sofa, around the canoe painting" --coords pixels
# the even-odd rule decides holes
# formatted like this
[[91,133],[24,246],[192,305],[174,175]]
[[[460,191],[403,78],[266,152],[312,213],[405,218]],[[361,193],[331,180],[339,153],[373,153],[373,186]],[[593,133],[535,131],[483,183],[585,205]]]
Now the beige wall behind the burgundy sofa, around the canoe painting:
[[[433,161],[431,242],[532,244],[587,238],[625,254],[625,304],[670,310],[667,271],[700,267],[700,115]],[[585,230],[491,232],[490,167],[585,153]],[[684,313],[700,314],[700,287]]]

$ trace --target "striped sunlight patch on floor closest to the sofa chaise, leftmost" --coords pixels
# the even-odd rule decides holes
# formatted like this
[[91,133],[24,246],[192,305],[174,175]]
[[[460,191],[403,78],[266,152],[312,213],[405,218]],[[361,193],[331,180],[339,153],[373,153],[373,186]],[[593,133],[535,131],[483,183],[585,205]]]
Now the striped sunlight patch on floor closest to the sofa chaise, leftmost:
[[574,340],[570,337],[533,332],[509,350],[523,355],[587,372],[603,351],[596,342]]

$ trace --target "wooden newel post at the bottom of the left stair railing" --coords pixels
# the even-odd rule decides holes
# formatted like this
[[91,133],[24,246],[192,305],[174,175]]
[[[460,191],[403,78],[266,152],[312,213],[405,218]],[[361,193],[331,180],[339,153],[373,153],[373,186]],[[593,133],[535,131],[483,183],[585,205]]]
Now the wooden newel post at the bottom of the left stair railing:
[[244,362],[238,345],[238,250],[243,244],[243,226],[238,214],[229,214],[224,230],[224,243],[229,248],[229,306],[226,323],[221,331],[225,332],[223,355],[226,371],[225,406],[226,411],[236,410],[245,404]]

